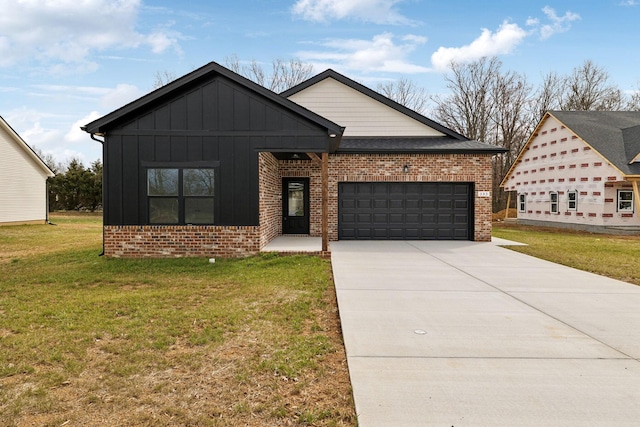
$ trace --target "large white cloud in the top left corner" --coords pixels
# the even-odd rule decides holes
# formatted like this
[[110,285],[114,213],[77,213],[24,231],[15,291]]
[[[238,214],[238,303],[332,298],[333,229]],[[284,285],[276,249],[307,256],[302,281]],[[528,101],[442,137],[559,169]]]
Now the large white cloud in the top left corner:
[[87,59],[95,51],[180,49],[176,32],[136,30],[140,0],[3,1],[1,8],[0,67],[35,60],[54,73],[89,72],[97,68]]

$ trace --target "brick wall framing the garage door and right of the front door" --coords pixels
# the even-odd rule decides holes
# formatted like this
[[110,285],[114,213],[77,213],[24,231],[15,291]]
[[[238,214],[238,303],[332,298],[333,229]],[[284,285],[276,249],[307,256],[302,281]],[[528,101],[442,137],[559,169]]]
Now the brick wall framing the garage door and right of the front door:
[[[310,235],[322,227],[321,165],[311,161],[281,161],[283,177],[309,177]],[[409,172],[403,171],[409,166]],[[491,155],[482,154],[336,154],[329,156],[329,240],[338,240],[339,182],[472,182],[474,190],[491,192]],[[491,240],[491,197],[475,197],[474,240]]]

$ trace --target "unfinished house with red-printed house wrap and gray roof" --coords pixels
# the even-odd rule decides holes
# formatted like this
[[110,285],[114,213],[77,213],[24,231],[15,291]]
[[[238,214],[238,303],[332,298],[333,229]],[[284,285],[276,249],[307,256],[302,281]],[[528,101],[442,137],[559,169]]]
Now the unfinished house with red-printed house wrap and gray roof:
[[638,230],[639,111],[547,112],[501,186],[518,222]]

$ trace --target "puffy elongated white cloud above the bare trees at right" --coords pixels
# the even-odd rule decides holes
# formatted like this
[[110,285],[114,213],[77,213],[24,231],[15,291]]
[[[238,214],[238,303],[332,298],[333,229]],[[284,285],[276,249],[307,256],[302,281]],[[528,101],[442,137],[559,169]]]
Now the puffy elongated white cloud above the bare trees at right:
[[436,70],[444,71],[449,68],[452,61],[464,63],[484,56],[511,53],[527,35],[527,32],[517,24],[505,21],[495,33],[486,28],[482,29],[480,37],[468,45],[440,47],[431,55],[431,63]]

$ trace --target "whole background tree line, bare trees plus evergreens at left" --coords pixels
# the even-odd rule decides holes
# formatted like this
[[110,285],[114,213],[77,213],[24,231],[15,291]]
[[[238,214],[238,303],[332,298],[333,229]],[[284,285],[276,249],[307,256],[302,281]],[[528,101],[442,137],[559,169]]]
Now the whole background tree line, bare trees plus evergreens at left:
[[[283,92],[312,77],[313,66],[298,59],[274,60],[267,71],[261,63],[242,63],[236,55],[225,65],[244,77],[274,92]],[[157,72],[154,88],[172,80],[174,73]],[[567,75],[549,72],[534,87],[527,76],[504,70],[496,57],[484,57],[470,63],[450,64],[443,75],[449,90],[444,95],[429,95],[425,88],[407,78],[378,84],[381,94],[427,115],[466,137],[491,143],[508,151],[493,158],[493,209],[506,205],[500,182],[543,115],[550,110],[640,111],[640,85],[625,94],[611,82],[606,69],[590,60]],[[52,156],[40,157],[55,172],[49,181],[50,210],[94,211],[102,203],[102,164],[96,160],[89,168],[77,159],[66,165]]]

